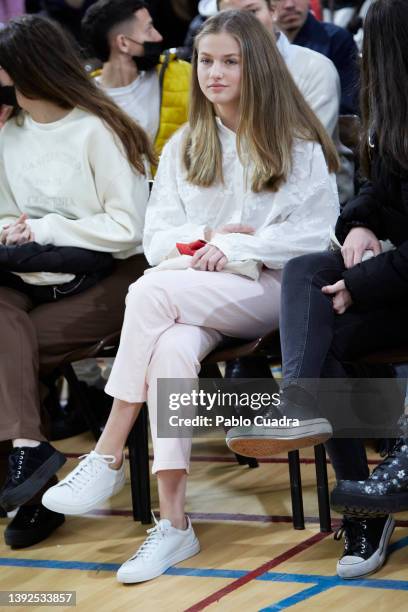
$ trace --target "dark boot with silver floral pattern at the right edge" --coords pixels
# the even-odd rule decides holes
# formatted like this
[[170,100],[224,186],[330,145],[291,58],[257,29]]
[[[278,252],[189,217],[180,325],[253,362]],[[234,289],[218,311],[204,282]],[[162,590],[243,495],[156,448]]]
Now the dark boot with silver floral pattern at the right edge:
[[408,443],[401,438],[367,480],[339,480],[331,494],[337,512],[384,516],[408,510]]

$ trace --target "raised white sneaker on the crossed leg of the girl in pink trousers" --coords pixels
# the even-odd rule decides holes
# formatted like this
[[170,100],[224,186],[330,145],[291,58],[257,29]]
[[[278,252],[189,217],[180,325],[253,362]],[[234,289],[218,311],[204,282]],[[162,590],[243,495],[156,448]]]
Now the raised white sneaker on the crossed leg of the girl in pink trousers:
[[124,487],[124,457],[118,470],[109,467],[116,461],[113,455],[91,451],[80,459],[82,461],[68,476],[44,493],[42,504],[48,510],[61,514],[85,514]]

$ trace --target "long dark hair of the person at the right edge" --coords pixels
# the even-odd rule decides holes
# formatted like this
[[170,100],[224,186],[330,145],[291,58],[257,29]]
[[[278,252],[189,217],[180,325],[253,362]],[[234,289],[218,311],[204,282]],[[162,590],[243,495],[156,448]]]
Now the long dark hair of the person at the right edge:
[[408,170],[408,4],[376,0],[365,19],[361,75],[361,164],[370,168],[370,135],[379,155]]

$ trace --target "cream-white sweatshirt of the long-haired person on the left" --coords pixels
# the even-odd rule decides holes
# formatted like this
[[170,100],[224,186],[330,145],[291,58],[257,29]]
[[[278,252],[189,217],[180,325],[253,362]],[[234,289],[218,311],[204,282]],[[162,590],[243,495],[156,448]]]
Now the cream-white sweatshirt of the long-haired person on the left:
[[0,227],[21,213],[39,244],[124,259],[142,252],[148,183],[103,122],[75,108],[53,123],[14,119],[0,132]]

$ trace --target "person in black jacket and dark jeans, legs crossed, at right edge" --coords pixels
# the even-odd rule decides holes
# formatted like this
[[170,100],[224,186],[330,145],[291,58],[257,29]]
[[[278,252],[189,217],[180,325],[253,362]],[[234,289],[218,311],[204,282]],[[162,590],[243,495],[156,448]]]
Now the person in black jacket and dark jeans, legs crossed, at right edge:
[[[408,344],[407,97],[406,3],[377,0],[366,17],[362,62],[361,162],[369,180],[338,219],[341,250],[292,259],[283,274],[284,393],[278,414],[298,418],[299,427],[291,431],[259,427],[257,432],[233,428],[227,437],[236,452],[239,439],[246,442],[249,456],[256,454],[260,442],[264,451],[269,445],[281,452],[324,441],[327,420],[316,409],[316,379],[346,378],[346,360]],[[370,507],[368,500],[374,492],[377,509],[378,498],[388,498],[388,505],[384,502],[381,507],[382,516],[344,520],[345,551],[337,572],[343,578],[356,578],[376,571],[385,560],[394,528],[388,514],[391,502],[399,497],[401,507],[407,497],[408,443],[406,438],[399,440],[368,482],[365,449],[359,439],[332,439],[327,449],[337,480],[354,481],[348,483],[348,491],[353,488],[354,494],[365,494],[362,507]],[[340,483],[337,493],[344,494],[346,506],[341,487]],[[341,497],[336,500],[338,508]]]

